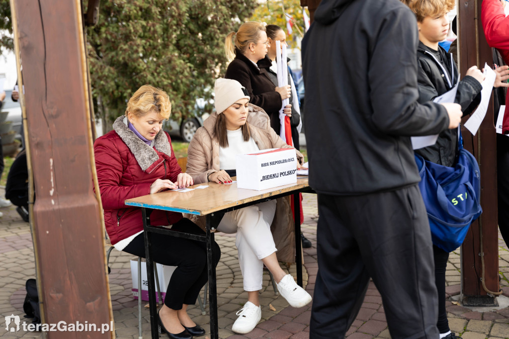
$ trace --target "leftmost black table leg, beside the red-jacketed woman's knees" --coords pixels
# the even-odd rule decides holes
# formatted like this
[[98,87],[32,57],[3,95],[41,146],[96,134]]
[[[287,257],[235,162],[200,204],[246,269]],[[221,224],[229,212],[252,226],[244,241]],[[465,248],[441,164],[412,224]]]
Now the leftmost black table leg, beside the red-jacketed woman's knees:
[[[155,279],[154,279],[154,262],[150,255],[151,245],[151,234],[147,231],[147,227],[150,226],[150,213],[151,209],[147,211],[146,208],[142,208],[143,215],[143,234],[145,238],[145,261],[147,265],[147,280],[149,289],[149,306],[150,306],[150,329],[152,332],[153,339],[159,339],[159,331],[157,328],[157,302],[156,302],[156,291],[155,291]],[[142,297],[142,287],[138,287],[138,298]]]

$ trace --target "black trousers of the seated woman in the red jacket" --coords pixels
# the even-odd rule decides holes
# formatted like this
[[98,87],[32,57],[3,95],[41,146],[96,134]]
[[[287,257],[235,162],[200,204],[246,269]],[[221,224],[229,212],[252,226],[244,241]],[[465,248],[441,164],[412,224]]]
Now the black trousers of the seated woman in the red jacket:
[[[172,230],[204,235],[191,220],[183,218]],[[182,304],[194,305],[200,290],[207,283],[207,245],[205,242],[157,234],[152,237],[152,259],[154,262],[177,266],[169,279],[164,304],[172,309],[182,309]],[[214,242],[215,265],[221,257],[219,245]],[[124,251],[145,258],[143,233],[136,236]]]

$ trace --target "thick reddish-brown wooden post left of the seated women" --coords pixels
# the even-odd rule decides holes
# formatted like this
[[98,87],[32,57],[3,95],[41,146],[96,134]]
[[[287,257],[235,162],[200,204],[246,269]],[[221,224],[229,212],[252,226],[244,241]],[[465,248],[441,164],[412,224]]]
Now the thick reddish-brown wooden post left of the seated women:
[[113,338],[104,231],[93,192],[81,4],[11,0],[11,8],[34,170],[32,223],[43,322],[98,328],[47,332],[47,337]]

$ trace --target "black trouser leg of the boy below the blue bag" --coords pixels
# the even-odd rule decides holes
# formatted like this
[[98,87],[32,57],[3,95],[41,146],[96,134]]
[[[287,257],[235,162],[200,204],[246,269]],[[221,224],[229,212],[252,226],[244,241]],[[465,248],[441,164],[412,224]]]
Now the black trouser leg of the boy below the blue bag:
[[447,311],[445,310],[445,271],[447,269],[447,260],[449,260],[449,252],[433,245],[433,259],[435,261],[435,285],[438,291],[437,327],[440,333],[447,333],[450,329]]

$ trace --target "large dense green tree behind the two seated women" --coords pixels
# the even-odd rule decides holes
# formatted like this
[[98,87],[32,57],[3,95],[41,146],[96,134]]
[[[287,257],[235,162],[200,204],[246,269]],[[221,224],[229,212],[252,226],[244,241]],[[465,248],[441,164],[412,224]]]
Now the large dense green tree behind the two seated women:
[[[83,1],[83,12],[87,10]],[[212,98],[214,79],[228,66],[224,38],[246,20],[256,0],[105,0],[87,27],[96,116],[110,129],[143,84],[166,91],[172,118],[192,112],[196,98]],[[0,29],[12,33],[9,0],[0,0]],[[12,50],[12,39],[0,49]]]

